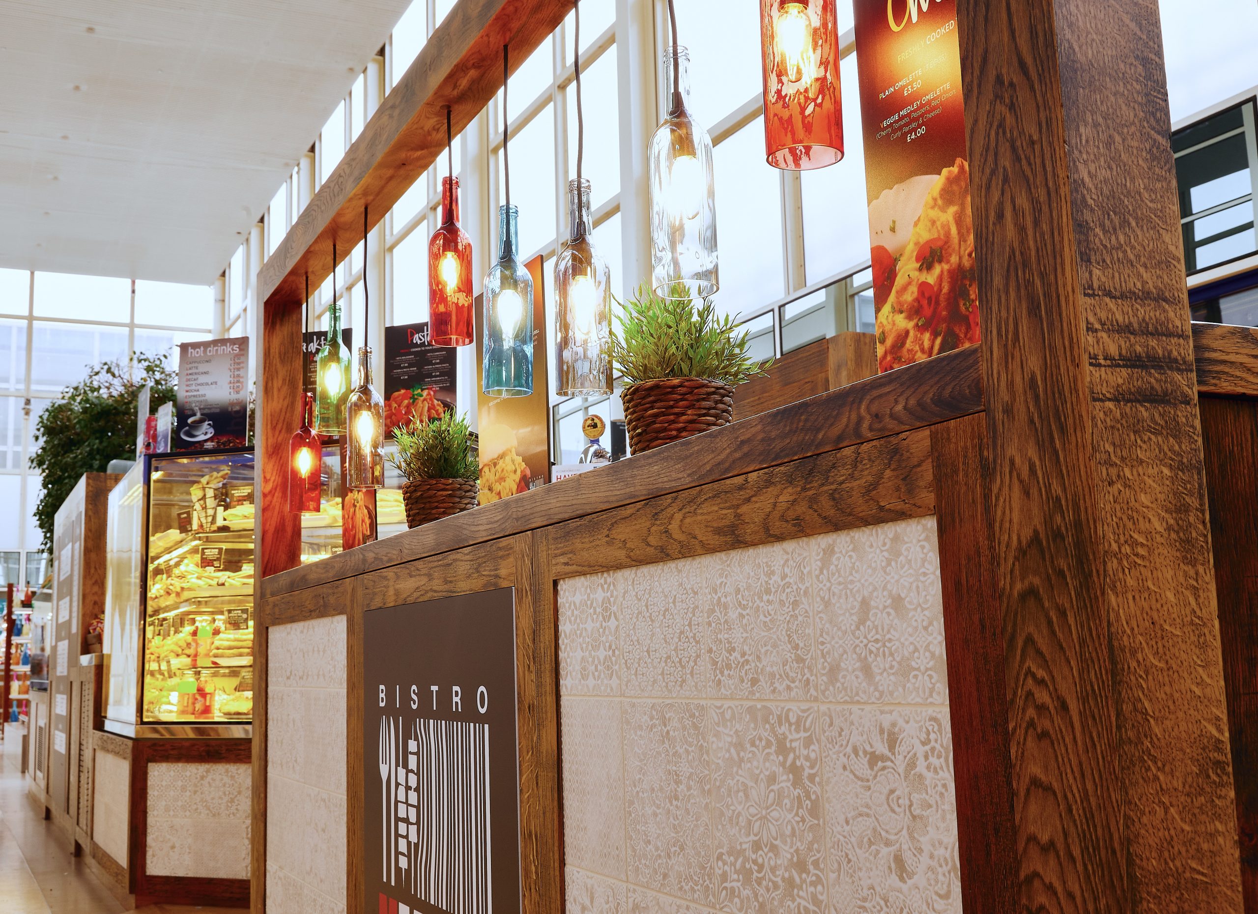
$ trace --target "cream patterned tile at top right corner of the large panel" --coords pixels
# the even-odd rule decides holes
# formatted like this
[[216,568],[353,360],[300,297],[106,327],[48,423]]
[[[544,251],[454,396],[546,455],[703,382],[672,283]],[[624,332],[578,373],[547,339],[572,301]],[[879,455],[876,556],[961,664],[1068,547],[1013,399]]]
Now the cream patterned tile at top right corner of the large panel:
[[821,700],[946,704],[935,518],[809,541]]

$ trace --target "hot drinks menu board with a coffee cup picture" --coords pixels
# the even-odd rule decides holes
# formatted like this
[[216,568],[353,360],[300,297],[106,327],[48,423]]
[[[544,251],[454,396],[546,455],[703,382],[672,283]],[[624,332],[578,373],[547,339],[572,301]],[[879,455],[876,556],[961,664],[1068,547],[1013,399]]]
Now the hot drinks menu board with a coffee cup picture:
[[249,338],[179,346],[175,450],[244,448],[249,425]]

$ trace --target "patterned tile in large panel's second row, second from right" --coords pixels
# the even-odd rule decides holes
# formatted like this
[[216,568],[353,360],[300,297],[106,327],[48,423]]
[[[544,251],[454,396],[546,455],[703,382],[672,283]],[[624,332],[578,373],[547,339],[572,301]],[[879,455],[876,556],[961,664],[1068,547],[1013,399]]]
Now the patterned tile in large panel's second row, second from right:
[[825,909],[815,705],[712,705],[716,900],[723,911]]

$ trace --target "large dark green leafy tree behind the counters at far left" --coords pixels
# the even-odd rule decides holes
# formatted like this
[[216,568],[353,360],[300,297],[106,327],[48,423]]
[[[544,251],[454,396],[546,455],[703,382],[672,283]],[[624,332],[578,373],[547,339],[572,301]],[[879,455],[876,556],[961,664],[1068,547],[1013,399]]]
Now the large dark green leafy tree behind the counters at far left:
[[111,460],[136,456],[136,407],[140,388],[153,386],[155,406],[175,399],[177,375],[165,356],[136,353],[130,362],[103,362],[35,422],[38,450],[30,464],[43,475],[43,495],[35,523],[44,534],[44,552],[52,554],[53,520],[62,502],[84,473],[103,473]]

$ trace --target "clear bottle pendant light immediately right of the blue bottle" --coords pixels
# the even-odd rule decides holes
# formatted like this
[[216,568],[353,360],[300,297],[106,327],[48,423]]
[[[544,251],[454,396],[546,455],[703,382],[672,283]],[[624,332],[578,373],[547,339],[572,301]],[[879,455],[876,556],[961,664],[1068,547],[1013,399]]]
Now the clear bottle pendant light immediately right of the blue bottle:
[[555,260],[555,350],[561,397],[611,392],[611,280],[594,250],[590,182],[567,185],[570,231]]

